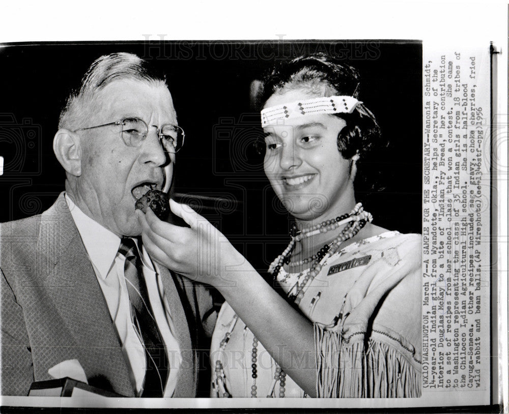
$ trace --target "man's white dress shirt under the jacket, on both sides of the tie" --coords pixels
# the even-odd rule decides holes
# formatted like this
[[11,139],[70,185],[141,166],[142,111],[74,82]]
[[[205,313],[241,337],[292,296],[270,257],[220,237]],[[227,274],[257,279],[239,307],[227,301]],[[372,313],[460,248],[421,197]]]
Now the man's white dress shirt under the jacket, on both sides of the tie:
[[[125,257],[118,253],[120,238],[84,214],[67,194],[65,199],[115,323],[124,357],[131,368],[131,380],[139,395],[146,371],[145,351],[131,321],[131,305],[124,277]],[[152,262],[143,246],[141,252],[143,277],[150,304],[168,355],[169,375],[163,396],[171,397],[182,360],[180,348],[174,335],[174,325],[157,264]]]

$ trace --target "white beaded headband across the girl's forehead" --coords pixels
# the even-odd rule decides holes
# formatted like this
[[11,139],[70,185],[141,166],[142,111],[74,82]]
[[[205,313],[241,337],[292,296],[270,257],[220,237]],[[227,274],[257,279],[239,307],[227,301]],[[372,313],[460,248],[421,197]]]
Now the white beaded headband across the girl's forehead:
[[274,124],[280,119],[296,118],[302,115],[352,113],[361,103],[352,96],[328,96],[271,106],[262,109],[262,127]]

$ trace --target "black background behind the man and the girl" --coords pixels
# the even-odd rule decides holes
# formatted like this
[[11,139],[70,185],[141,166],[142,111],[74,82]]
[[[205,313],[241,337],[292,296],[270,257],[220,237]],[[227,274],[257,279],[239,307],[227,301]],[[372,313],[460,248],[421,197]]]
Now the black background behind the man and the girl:
[[361,74],[361,100],[390,141],[379,160],[386,185],[364,207],[374,223],[421,231],[422,47],[419,42],[164,42],[12,44],[0,49],[0,221],[46,210],[64,190],[52,152],[71,87],[100,55],[126,51],[168,79],[186,142],[177,155],[174,197],[191,204],[260,271],[288,244],[289,220],[248,144],[260,129],[250,106],[253,79],[274,63],[334,53]]

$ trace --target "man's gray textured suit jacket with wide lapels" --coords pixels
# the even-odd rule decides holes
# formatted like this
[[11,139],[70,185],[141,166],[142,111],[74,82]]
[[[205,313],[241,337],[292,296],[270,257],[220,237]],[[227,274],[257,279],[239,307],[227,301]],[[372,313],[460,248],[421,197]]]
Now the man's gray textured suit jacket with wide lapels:
[[[27,395],[77,359],[90,385],[135,395],[108,307],[63,193],[42,215],[0,227],[2,395]],[[161,269],[182,363],[174,397],[196,395],[197,354],[214,323],[200,284]]]

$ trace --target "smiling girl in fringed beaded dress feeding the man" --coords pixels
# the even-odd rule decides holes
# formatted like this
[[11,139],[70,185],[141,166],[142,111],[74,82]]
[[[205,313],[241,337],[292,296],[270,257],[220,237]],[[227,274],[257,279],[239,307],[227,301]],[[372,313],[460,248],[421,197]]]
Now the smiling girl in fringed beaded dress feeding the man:
[[157,261],[227,301],[212,339],[213,395],[420,396],[420,235],[371,224],[355,199],[381,144],[356,71],[299,57],[265,79],[262,102],[265,173],[296,224],[269,269],[286,300],[185,206],[171,201],[190,229],[139,215]]

